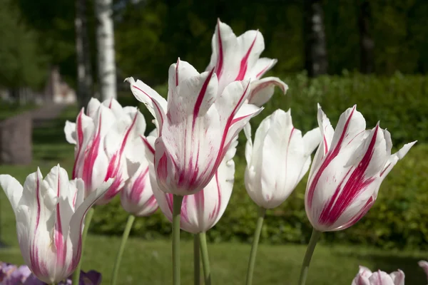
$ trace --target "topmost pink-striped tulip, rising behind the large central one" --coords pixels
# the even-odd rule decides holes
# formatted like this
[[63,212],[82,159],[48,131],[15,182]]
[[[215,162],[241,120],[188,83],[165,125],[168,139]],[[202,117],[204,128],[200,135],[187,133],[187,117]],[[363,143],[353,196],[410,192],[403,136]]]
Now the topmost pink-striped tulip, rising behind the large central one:
[[275,66],[277,59],[260,58],[265,49],[265,40],[260,31],[246,31],[237,37],[230,26],[218,19],[211,46],[213,53],[206,70],[211,71],[214,68],[220,92],[233,81],[249,78],[252,79],[251,92],[248,95],[251,104],[265,104],[272,97],[275,86],[283,93],[287,92],[287,84],[279,78],[262,78]]

